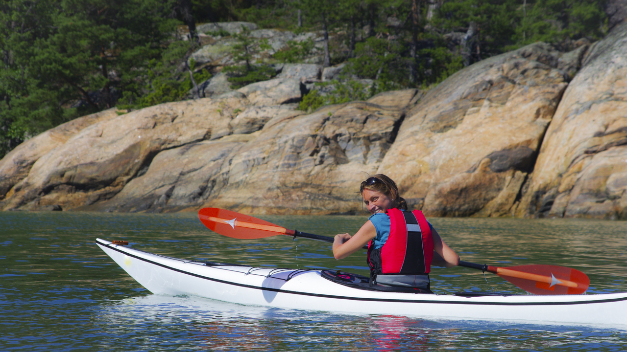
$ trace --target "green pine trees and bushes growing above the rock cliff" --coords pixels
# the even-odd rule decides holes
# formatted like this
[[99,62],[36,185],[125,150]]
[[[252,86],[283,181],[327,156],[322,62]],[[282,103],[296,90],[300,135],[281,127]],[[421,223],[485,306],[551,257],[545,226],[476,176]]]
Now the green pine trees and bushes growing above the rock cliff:
[[[177,1],[1,1],[0,157],[26,138],[76,116],[114,104],[142,108],[186,98],[192,83],[183,64],[197,48],[172,36]],[[419,16],[412,12],[414,3]],[[320,31],[324,24],[334,38],[331,62],[349,58],[349,73],[374,81],[367,89],[347,82],[333,83],[327,94],[314,90],[303,98],[303,110],[363,100],[384,90],[435,85],[465,64],[534,41],[566,50],[577,39],[599,39],[607,30],[608,0],[430,3],[441,6],[428,21],[425,1],[191,0],[198,23],[251,21],[261,28],[295,32]],[[297,27],[298,9],[303,27]],[[469,59],[470,46],[463,47],[459,38],[471,24],[477,32]],[[366,25],[371,32],[361,31]],[[456,41],[445,38],[451,33]],[[235,38],[238,66],[224,68],[229,81],[239,87],[276,75],[271,66],[253,63],[256,51],[270,47],[266,39],[250,38],[246,31]],[[290,41],[273,59],[298,63],[314,49],[312,40]],[[189,61],[189,66],[194,71],[194,63]],[[197,82],[210,76],[205,69],[196,71]]]

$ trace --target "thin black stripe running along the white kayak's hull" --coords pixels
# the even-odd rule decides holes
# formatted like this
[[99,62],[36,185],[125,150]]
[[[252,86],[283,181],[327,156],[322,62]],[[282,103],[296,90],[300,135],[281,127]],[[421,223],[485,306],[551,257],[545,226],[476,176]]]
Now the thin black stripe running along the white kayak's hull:
[[[96,242],[99,246],[103,246],[103,247],[108,247],[110,249],[113,249],[114,251],[120,252],[122,254],[125,254],[129,257],[134,257],[135,259],[139,259],[140,261],[144,261],[150,264],[153,264],[155,266],[160,266],[160,267],[164,267],[166,269],[169,269],[171,271],[176,271],[176,272],[181,272],[182,274],[187,274],[189,276],[194,276],[194,277],[199,277],[200,279],[205,279],[205,280],[209,280],[209,281],[214,281],[214,282],[220,282],[222,284],[229,284],[232,286],[238,286],[238,287],[246,287],[246,288],[250,288],[250,289],[258,289],[260,291],[271,291],[271,292],[281,292],[281,293],[287,293],[287,294],[297,294],[300,296],[313,296],[313,297],[321,297],[321,298],[333,298],[333,299],[346,299],[349,301],[369,301],[369,302],[390,302],[390,303],[430,303],[430,304],[472,304],[472,305],[482,305],[482,306],[564,306],[564,305],[579,305],[579,304],[595,304],[595,303],[609,303],[609,302],[617,302],[617,301],[626,301],[627,297],[623,297],[623,298],[613,298],[613,299],[599,299],[598,301],[572,301],[572,302],[538,302],[538,303],[531,303],[531,302],[459,302],[459,301],[431,301],[428,299],[388,299],[388,298],[360,298],[360,297],[346,297],[346,296],[334,296],[331,294],[317,294],[317,293],[308,293],[308,292],[298,292],[298,291],[289,291],[289,290],[283,290],[283,289],[273,289],[270,287],[260,287],[260,286],[253,286],[253,285],[247,285],[247,284],[238,284],[236,282],[231,282],[231,281],[224,281],[224,280],[220,280],[220,279],[214,279],[213,277],[208,277],[208,276],[203,276],[200,274],[194,274],[193,272],[187,272],[181,269],[176,269],[174,267],[171,266],[167,266],[165,264],[161,264],[158,262],[154,262],[154,261],[150,261],[149,259],[145,259],[139,256],[135,256],[134,254],[130,254],[128,252],[125,251],[120,251],[120,249],[117,249],[116,247],[113,247],[111,244],[104,244],[104,243],[100,243],[100,242]],[[134,251],[138,251],[138,252],[144,252],[144,251],[140,251],[139,249],[134,249]],[[149,252],[144,252],[147,254],[151,254],[153,256],[159,256],[159,254],[152,254]],[[165,257],[165,256],[163,256]],[[171,257],[166,257],[167,259],[173,259],[176,260],[174,258]],[[181,260],[181,259],[179,259]],[[181,260],[182,262],[186,262]],[[122,268],[124,269],[124,268]],[[424,295],[429,295],[429,294],[424,294]],[[515,295],[512,295],[515,296]],[[510,296],[511,297],[511,296]]]

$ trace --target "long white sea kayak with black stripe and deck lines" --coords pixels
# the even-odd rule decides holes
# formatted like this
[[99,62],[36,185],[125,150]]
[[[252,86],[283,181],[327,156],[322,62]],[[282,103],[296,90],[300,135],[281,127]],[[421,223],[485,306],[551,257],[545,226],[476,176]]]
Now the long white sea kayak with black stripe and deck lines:
[[102,239],[96,242],[154,294],[337,313],[627,326],[627,292],[540,296],[373,291],[332,280],[329,271],[187,261]]

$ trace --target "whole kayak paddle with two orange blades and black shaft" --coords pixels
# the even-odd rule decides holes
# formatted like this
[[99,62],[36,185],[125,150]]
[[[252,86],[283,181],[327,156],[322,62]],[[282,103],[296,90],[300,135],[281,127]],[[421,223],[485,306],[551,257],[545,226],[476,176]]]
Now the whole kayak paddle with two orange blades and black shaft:
[[[236,239],[260,239],[277,235],[303,237],[333,243],[333,237],[307,234],[272,224],[250,215],[218,208],[204,208],[198,218],[210,230]],[[364,246],[364,249],[367,246]],[[534,294],[582,294],[590,281],[586,274],[576,269],[553,265],[524,265],[495,267],[460,261],[460,266],[493,272],[517,287]]]

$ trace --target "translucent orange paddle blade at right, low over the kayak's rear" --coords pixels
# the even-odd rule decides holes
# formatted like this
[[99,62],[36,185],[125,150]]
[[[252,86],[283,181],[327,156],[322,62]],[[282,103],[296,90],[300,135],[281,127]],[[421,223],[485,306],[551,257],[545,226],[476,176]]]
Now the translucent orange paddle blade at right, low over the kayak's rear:
[[582,294],[590,286],[583,272],[554,265],[488,267],[503,279],[534,294]]

